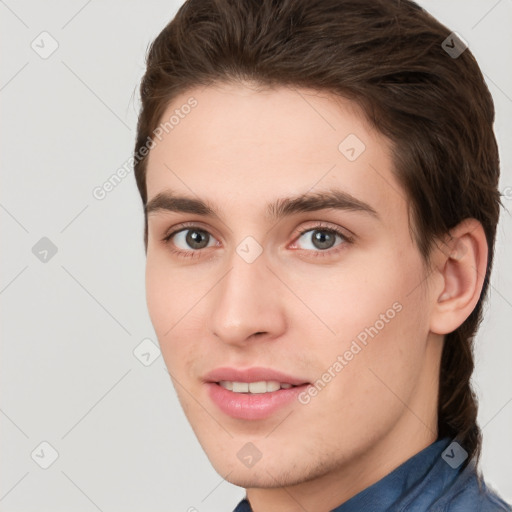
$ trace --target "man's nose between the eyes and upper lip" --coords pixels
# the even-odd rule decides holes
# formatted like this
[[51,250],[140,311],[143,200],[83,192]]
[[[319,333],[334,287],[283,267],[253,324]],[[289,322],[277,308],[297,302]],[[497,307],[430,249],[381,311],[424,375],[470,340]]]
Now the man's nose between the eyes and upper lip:
[[209,328],[224,343],[242,347],[256,339],[268,341],[286,327],[286,294],[264,253],[249,263],[234,251],[229,270],[211,293]]

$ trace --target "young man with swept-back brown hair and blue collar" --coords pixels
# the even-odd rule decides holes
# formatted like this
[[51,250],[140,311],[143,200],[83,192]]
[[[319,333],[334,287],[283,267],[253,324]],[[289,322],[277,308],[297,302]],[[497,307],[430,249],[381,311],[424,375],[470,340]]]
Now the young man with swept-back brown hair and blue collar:
[[151,45],[147,303],[237,512],[510,510],[472,338],[499,216],[463,41],[394,0],[189,0]]

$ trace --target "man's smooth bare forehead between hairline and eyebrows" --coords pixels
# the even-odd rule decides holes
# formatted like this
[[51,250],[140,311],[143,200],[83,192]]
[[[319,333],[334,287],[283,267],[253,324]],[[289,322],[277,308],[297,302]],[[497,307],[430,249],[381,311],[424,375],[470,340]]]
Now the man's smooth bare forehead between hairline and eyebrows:
[[172,189],[257,205],[331,186],[381,210],[405,199],[389,141],[357,105],[325,92],[217,84],[177,96],[160,121],[148,201]]

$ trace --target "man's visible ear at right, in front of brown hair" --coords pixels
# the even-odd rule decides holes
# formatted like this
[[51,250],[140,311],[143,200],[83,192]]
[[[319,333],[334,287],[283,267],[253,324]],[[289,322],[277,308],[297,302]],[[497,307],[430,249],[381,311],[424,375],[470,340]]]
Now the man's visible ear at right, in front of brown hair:
[[485,231],[476,219],[465,219],[450,230],[433,258],[440,283],[434,289],[430,330],[448,334],[475,308],[487,269]]

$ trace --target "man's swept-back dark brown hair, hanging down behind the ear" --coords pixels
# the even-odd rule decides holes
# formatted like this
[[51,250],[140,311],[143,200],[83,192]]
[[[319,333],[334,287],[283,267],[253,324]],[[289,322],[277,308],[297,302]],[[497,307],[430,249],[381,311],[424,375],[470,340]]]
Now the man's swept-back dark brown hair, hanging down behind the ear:
[[[442,46],[451,31],[409,0],[187,0],[151,44],[140,86],[135,177],[147,202],[147,143],[175,96],[215,82],[328,91],[358,103],[393,145],[411,229],[429,261],[437,237],[482,224],[489,247],[478,304],[445,337],[438,436],[477,462],[481,431],[471,387],[500,211],[494,105],[469,49]],[[451,43],[453,45],[453,42]],[[147,219],[144,242],[147,249]]]

